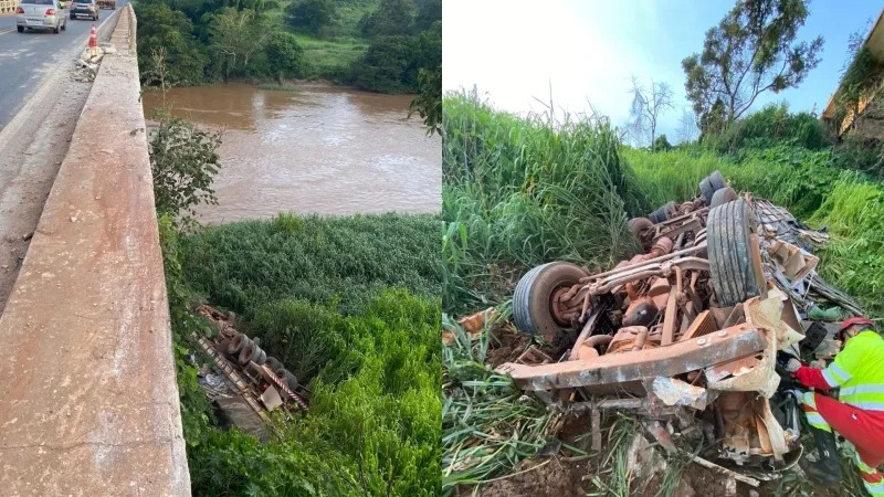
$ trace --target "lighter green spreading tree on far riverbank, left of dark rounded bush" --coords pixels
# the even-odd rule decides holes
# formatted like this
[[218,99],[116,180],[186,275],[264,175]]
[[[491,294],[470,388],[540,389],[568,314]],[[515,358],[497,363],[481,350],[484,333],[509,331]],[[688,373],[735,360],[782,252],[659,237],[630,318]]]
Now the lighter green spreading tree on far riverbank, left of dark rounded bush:
[[224,73],[244,76],[255,54],[262,53],[269,30],[252,10],[224,9],[209,23],[211,51]]

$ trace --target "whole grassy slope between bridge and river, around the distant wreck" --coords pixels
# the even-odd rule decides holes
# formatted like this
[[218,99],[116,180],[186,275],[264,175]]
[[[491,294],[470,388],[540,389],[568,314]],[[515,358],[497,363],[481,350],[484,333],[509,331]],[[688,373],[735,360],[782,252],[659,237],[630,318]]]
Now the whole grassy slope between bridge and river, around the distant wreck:
[[[194,495],[438,494],[439,220],[280,215],[179,235],[161,220]],[[194,295],[314,392],[262,445],[213,426],[186,337]]]

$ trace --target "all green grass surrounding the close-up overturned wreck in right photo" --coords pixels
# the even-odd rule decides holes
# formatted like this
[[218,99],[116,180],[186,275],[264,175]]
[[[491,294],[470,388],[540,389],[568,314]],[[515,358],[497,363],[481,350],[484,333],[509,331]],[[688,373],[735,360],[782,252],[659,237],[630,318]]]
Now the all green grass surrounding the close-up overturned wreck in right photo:
[[[884,314],[876,295],[884,285],[884,188],[838,170],[827,150],[779,146],[746,150],[739,161],[703,150],[650,154],[620,146],[603,120],[518,118],[463,96],[448,97],[444,113],[443,326],[450,329],[459,331],[448,315],[488,305],[506,319],[515,283],[535,265],[561,260],[602,268],[624,258],[636,248],[629,218],[693,198],[715,169],[738,190],[828,226],[832,241],[818,251],[822,275],[873,316]],[[487,336],[471,345],[461,335],[443,350],[449,494],[533,456],[556,421],[484,366],[488,347]],[[629,421],[618,426],[613,433],[628,432]],[[623,448],[609,445],[600,470],[613,473],[593,478],[598,491],[629,493],[630,477],[615,464]],[[855,485],[853,473],[848,475]]]

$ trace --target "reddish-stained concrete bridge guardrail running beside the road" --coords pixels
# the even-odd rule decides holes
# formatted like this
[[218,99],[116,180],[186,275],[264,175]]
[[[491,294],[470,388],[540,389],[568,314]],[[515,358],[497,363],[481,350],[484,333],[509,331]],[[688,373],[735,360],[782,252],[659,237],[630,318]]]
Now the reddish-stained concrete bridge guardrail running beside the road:
[[0,317],[3,495],[190,495],[134,28],[127,6]]

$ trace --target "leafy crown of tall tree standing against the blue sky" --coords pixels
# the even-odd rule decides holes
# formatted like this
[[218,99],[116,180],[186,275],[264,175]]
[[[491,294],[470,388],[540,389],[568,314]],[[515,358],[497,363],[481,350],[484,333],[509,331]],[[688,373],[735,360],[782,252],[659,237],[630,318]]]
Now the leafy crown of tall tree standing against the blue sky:
[[706,32],[703,52],[682,61],[704,131],[729,125],[764,92],[798,86],[817,67],[822,36],[796,42],[807,17],[807,0],[739,0]]

